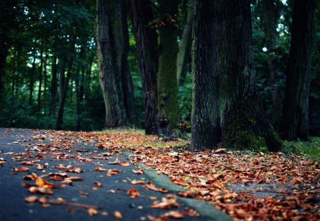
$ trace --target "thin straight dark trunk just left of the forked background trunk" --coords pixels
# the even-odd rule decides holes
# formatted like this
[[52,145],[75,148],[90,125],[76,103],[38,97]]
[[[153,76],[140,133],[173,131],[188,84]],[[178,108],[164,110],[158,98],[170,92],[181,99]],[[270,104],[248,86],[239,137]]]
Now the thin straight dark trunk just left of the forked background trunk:
[[55,105],[57,104],[57,89],[58,89],[58,66],[57,66],[57,55],[53,53],[52,57],[52,68],[51,68],[51,74],[52,74],[52,79],[51,79],[51,90],[50,90],[50,109],[49,109],[49,114],[52,116],[55,114]]

